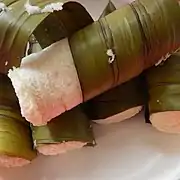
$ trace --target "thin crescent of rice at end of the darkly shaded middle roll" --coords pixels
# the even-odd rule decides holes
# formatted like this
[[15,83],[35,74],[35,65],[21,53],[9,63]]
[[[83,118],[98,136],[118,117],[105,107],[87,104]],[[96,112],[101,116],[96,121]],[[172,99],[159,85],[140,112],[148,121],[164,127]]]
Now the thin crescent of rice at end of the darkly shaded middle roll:
[[133,116],[138,114],[141,110],[142,110],[142,106],[137,106],[137,107],[128,109],[124,112],[121,112],[119,114],[116,114],[114,116],[108,117],[106,119],[94,120],[94,122],[98,124],[104,124],[104,125],[119,123],[126,119],[132,118]]

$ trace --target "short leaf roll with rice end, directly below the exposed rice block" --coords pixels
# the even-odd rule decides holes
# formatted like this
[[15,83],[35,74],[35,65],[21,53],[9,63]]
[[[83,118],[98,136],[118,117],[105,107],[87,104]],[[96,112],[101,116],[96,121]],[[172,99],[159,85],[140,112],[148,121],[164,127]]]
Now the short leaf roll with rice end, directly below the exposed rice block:
[[35,147],[44,155],[57,155],[94,144],[91,122],[80,107],[32,129]]

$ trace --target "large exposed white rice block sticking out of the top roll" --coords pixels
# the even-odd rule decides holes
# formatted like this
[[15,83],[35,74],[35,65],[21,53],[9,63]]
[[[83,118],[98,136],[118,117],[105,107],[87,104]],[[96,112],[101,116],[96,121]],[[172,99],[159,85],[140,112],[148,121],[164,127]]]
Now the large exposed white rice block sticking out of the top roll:
[[82,92],[67,39],[26,56],[20,68],[9,71],[21,114],[34,126],[82,102]]

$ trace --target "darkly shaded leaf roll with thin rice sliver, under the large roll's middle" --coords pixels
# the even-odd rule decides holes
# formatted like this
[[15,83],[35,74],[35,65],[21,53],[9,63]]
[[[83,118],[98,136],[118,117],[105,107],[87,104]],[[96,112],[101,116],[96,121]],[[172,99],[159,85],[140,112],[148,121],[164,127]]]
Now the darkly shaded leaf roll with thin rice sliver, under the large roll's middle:
[[109,90],[89,102],[85,110],[100,124],[117,123],[129,119],[142,110],[146,93],[141,77],[134,78]]

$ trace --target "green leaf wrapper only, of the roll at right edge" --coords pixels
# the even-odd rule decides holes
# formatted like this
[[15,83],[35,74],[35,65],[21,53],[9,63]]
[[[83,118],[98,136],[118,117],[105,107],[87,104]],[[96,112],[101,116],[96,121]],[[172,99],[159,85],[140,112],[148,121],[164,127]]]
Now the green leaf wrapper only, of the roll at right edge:
[[180,111],[180,52],[146,73],[149,112]]

